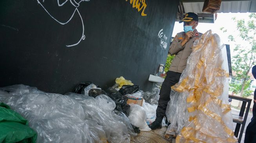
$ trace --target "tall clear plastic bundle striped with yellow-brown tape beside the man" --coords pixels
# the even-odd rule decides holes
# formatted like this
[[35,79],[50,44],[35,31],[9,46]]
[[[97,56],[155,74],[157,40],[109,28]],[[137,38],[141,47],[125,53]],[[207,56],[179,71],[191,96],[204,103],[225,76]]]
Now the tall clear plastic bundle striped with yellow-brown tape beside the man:
[[176,143],[236,143],[228,101],[229,73],[225,45],[209,30],[192,47],[180,81],[172,86],[165,137]]

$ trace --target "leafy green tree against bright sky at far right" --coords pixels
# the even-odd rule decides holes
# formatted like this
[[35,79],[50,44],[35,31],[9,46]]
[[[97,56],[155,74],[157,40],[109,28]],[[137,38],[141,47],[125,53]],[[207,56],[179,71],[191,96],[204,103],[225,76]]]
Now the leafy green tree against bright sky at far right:
[[[248,75],[252,66],[256,64],[256,14],[251,13],[249,15],[250,20],[245,21],[244,19],[237,20],[232,18],[236,23],[236,30],[239,32],[238,35],[229,35],[228,39],[231,42],[236,42],[237,38],[243,40],[241,44],[235,43],[234,52],[237,54],[232,57],[232,71],[236,73],[236,79],[244,79],[241,83],[241,88],[238,85],[230,85],[231,90],[238,92],[242,97],[250,95],[250,91],[246,88],[247,82],[250,79]],[[220,28],[223,32],[227,32],[227,29]],[[247,46],[249,45],[249,46]]]

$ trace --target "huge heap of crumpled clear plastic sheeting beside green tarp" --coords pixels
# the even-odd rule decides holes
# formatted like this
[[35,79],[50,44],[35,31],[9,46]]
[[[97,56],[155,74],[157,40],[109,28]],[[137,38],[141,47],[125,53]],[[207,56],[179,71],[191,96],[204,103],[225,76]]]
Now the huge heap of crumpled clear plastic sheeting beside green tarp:
[[0,97],[29,121],[38,143],[129,143],[137,135],[106,95],[60,95],[19,84],[0,88]]

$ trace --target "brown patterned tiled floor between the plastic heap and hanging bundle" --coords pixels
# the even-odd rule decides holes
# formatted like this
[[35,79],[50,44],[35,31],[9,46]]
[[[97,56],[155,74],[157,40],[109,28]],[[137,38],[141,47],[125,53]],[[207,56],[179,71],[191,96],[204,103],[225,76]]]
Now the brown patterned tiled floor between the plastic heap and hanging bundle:
[[130,143],[175,143],[175,139],[173,139],[173,141],[168,141],[164,138],[165,131],[166,127],[151,130],[149,132],[140,131],[140,134],[132,138]]

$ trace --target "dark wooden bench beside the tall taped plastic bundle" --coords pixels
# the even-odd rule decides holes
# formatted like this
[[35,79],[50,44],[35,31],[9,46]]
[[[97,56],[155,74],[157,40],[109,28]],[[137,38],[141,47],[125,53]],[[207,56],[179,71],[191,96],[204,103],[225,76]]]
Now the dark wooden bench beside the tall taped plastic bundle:
[[[238,97],[238,96],[234,96],[234,95],[229,95],[229,98],[234,99],[234,100],[240,100],[240,101],[243,102],[242,106],[241,106],[240,113],[239,114],[233,114],[232,113],[233,122],[236,123],[236,129],[234,131],[234,134],[235,134],[236,137],[238,137],[240,126],[242,125],[241,131],[240,131],[240,134],[239,134],[239,138],[238,138],[238,143],[240,143],[241,139],[242,139],[242,136],[243,136],[243,130],[245,128],[245,123],[246,123],[246,120],[247,120],[247,116],[248,116],[248,113],[249,113],[249,109],[250,109],[250,106],[251,106],[252,99]],[[246,104],[247,104],[247,106],[246,106]],[[245,111],[245,108],[246,108],[246,111]],[[243,116],[244,112],[245,112],[245,116]]]

